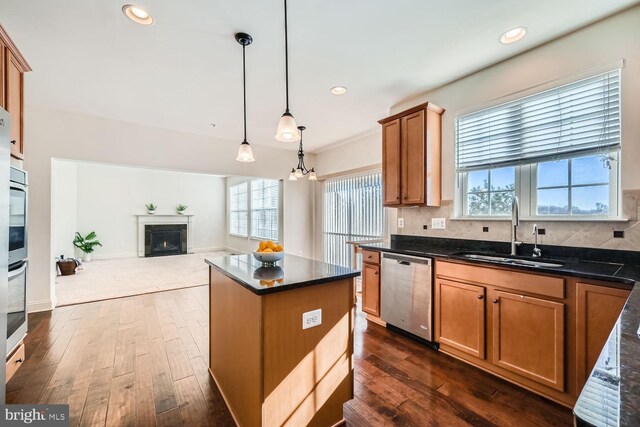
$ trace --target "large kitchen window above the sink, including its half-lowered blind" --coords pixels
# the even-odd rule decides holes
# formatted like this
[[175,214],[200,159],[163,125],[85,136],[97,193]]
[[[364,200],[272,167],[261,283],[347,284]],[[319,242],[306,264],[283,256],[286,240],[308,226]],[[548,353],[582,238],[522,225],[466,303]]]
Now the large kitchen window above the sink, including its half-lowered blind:
[[456,119],[458,216],[617,217],[620,70]]

